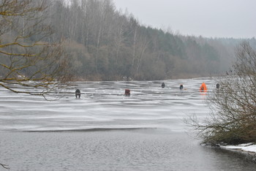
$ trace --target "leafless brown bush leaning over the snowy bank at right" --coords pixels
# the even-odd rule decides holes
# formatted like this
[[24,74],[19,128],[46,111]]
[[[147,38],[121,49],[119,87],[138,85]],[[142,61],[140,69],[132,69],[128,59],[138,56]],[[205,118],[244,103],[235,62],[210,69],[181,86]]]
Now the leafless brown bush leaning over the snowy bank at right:
[[190,120],[205,143],[256,142],[256,51],[242,42],[236,58],[233,70],[219,80],[221,88],[208,100],[211,117]]

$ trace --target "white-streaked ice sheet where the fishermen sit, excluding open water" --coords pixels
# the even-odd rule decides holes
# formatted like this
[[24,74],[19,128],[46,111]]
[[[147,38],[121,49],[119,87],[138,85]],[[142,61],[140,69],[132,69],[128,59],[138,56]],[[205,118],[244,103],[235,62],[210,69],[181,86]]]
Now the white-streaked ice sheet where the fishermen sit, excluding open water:
[[[165,82],[165,88],[161,88]],[[162,128],[184,131],[183,119],[209,113],[199,88],[205,82],[208,93],[216,83],[210,78],[129,81],[76,82],[63,98],[46,101],[40,96],[14,94],[0,88],[1,131],[57,131],[78,129]],[[184,85],[184,91],[179,85]],[[75,99],[75,89],[81,98]],[[131,96],[124,96],[124,89]]]

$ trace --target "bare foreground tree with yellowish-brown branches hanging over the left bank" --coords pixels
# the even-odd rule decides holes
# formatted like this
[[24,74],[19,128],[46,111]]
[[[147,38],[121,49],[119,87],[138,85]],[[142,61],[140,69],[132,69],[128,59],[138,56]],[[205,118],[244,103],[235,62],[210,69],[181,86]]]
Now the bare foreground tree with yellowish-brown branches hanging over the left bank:
[[53,34],[45,23],[49,5],[45,0],[0,0],[0,86],[45,96],[69,79],[61,44],[47,39]]

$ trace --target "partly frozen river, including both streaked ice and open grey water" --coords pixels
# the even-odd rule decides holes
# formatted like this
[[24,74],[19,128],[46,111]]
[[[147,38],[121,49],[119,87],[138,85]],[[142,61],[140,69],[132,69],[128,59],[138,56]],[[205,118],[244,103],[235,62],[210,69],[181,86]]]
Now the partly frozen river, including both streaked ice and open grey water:
[[209,113],[203,82],[211,94],[209,78],[165,80],[165,88],[161,81],[77,82],[50,102],[0,88],[0,163],[11,170],[254,170],[188,132],[184,118]]

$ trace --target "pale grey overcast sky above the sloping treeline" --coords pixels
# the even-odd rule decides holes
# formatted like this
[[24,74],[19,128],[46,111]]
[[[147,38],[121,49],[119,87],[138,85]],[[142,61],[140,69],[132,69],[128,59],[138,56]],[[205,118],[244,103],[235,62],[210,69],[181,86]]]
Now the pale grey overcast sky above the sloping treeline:
[[256,37],[256,0],[113,0],[140,23],[203,37]]

